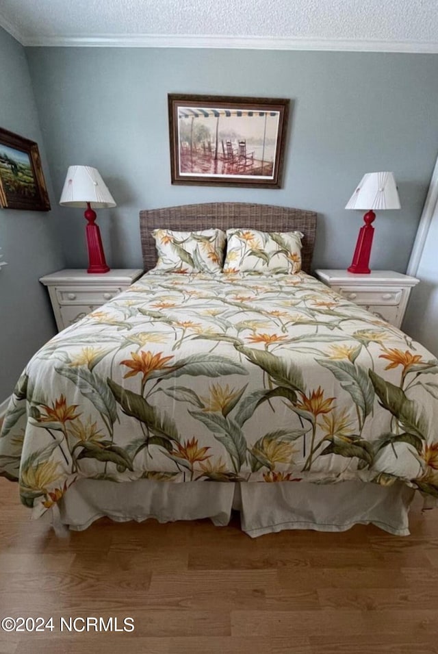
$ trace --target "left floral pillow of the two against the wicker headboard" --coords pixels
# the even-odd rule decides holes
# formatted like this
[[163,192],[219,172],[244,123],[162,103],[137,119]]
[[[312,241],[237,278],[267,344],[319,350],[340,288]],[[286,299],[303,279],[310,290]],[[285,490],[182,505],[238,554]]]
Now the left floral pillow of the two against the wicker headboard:
[[157,265],[150,272],[219,273],[225,250],[225,233],[221,229],[172,231],[154,229]]

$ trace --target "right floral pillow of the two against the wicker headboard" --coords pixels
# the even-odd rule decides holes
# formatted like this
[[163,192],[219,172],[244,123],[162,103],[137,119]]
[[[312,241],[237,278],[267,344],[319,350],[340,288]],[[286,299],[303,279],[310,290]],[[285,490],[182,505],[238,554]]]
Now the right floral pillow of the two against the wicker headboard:
[[227,229],[224,273],[299,273],[300,231],[258,231]]

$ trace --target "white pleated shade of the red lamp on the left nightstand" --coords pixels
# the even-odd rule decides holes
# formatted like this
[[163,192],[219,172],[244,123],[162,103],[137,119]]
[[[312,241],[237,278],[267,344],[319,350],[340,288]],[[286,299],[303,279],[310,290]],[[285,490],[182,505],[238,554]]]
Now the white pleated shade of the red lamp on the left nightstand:
[[68,166],[60,205],[64,207],[86,207],[88,202],[92,209],[106,209],[107,207],[117,206],[97,168]]

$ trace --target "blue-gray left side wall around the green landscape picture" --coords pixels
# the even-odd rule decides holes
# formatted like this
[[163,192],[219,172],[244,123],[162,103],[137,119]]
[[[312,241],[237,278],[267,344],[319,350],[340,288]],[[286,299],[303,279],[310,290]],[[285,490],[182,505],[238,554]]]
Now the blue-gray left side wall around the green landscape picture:
[[[25,50],[0,28],[0,127],[38,142],[53,203]],[[0,209],[0,403],[29,357],[55,334],[47,290],[38,278],[59,268],[60,243],[52,212]]]

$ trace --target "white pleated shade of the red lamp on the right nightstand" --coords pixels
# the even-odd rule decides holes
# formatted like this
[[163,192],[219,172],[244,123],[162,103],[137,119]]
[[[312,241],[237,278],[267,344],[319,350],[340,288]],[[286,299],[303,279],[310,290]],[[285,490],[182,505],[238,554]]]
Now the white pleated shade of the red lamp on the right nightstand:
[[396,180],[393,173],[363,175],[346,209],[400,209]]

